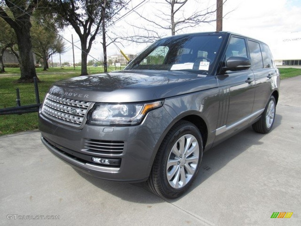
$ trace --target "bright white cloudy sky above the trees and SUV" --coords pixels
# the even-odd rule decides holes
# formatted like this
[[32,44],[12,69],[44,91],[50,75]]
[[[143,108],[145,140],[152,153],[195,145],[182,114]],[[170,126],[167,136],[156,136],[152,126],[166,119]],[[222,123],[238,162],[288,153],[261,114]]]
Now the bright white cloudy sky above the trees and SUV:
[[[154,0],[153,0],[154,1]],[[156,0],[155,0],[156,1]],[[164,0],[160,0],[161,2]],[[159,2],[157,0],[156,2]],[[190,5],[187,5],[185,9],[186,12],[192,11],[194,8],[204,8],[204,5],[197,5],[196,1],[189,0]],[[206,1],[202,1],[206,2]],[[132,5],[138,5],[141,0],[132,0]],[[206,5],[213,5],[216,0],[206,2]],[[131,6],[130,6],[131,7]],[[143,15],[148,15],[149,18],[154,18],[156,13],[157,4],[145,3],[138,10],[143,13]],[[121,12],[123,15],[125,12]],[[167,11],[168,13],[168,11]],[[227,14],[228,13],[228,14]],[[275,55],[279,54],[279,45],[282,45],[280,40],[287,39],[290,36],[300,36],[301,38],[301,0],[228,0],[223,7],[223,14],[225,18],[223,19],[223,30],[231,31],[252,38],[259,39],[266,42],[272,49]],[[227,14],[227,15],[225,15]],[[134,21],[137,25],[142,23],[142,20],[137,20],[137,16],[131,14],[124,18],[124,20],[119,21],[115,26],[111,26],[110,29],[131,31],[131,27],[125,23],[126,21]],[[157,20],[157,19],[156,19]],[[189,28],[182,33],[194,33],[194,32],[204,32],[204,31],[215,31],[216,23],[211,24],[201,24],[198,27]],[[299,32],[299,33],[298,33]],[[73,34],[73,40],[76,46],[80,47],[79,38],[74,30],[70,27],[65,29],[64,37],[71,41],[71,34]],[[110,32],[109,36],[113,36]],[[170,34],[168,34],[170,35]],[[96,59],[103,58],[102,47],[100,43],[101,36],[99,36],[92,46],[90,55]],[[110,41],[109,41],[110,42]],[[300,42],[299,42],[300,43]],[[123,50],[125,53],[136,54],[141,52],[147,44],[129,44],[123,41],[123,46],[120,43],[116,45]],[[62,62],[68,61],[72,62],[72,48],[71,44],[67,43],[67,51],[61,56]],[[282,48],[283,49],[283,48]],[[79,49],[75,48],[75,62],[80,61],[81,52]],[[107,55],[119,54],[119,50],[113,44],[107,49]],[[88,56],[88,60],[92,57]],[[59,56],[54,55],[54,62],[59,62]]]

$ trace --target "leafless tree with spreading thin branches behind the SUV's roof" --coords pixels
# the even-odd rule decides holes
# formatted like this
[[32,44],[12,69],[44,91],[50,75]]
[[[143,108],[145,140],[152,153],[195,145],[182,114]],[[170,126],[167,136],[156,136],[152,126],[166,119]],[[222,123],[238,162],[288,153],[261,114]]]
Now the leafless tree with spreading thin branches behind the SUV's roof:
[[[227,0],[224,0],[224,3]],[[161,2],[150,2],[155,7],[155,14],[145,16],[143,12],[134,10],[139,20],[143,20],[146,25],[128,23],[133,29],[133,35],[128,31],[121,34],[121,39],[145,43],[154,42],[167,35],[175,35],[183,30],[195,27],[199,24],[208,24],[216,21],[216,2],[207,5],[200,1],[194,1],[194,9],[191,10],[191,1],[188,0],[161,0]],[[189,10],[188,10],[189,7]],[[120,35],[119,35],[120,36]]]

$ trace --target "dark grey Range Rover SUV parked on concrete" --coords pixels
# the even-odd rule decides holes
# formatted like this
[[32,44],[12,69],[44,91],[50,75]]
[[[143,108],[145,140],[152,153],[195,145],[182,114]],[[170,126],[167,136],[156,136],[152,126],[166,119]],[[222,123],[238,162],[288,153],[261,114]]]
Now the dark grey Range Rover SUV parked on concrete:
[[44,145],[72,167],[176,198],[203,152],[273,126],[279,72],[268,46],[229,32],[160,39],[122,71],[56,82],[39,110]]

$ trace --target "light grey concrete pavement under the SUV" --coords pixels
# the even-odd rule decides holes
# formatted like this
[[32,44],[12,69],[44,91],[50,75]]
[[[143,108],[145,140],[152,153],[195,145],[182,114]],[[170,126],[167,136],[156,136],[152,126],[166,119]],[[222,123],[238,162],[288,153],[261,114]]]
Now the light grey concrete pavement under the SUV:
[[282,80],[274,129],[247,128],[206,152],[175,200],[75,171],[37,130],[2,136],[0,225],[301,225],[300,87],[301,76]]

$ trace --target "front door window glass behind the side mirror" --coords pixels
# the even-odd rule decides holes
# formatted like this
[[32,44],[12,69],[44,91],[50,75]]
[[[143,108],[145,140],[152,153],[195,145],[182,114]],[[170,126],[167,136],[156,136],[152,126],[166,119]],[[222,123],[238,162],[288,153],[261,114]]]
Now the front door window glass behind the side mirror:
[[242,38],[231,37],[228,49],[226,51],[226,60],[231,56],[247,57],[245,40]]

